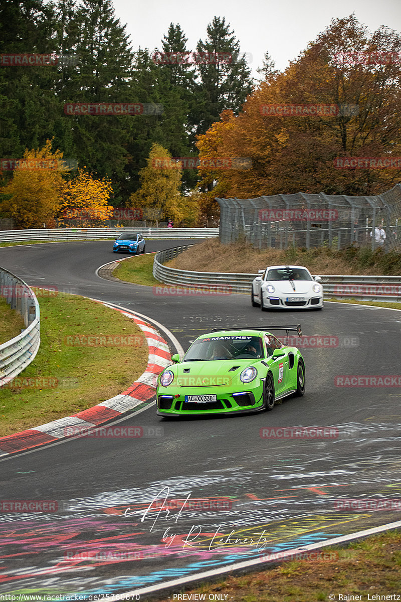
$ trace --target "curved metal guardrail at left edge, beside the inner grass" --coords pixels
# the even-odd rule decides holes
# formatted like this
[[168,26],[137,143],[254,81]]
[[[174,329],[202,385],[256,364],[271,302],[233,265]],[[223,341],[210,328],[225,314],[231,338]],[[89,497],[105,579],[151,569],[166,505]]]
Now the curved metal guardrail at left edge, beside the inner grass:
[[40,346],[39,303],[31,288],[11,272],[0,268],[0,295],[22,315],[25,330],[0,345],[0,388],[35,358]]

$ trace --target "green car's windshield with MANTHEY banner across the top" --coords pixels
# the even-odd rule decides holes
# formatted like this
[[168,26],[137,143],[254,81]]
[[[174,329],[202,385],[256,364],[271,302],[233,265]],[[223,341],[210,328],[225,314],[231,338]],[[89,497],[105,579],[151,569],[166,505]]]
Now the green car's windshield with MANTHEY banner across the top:
[[183,361],[208,361],[217,359],[263,358],[260,337],[246,335],[223,335],[206,337],[192,343]]

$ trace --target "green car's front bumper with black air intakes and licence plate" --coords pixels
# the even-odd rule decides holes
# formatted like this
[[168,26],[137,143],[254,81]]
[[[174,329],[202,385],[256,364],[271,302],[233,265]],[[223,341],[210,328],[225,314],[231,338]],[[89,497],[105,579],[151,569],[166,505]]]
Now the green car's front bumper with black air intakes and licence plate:
[[[257,412],[263,408],[264,379],[256,378],[242,386],[158,386],[156,413],[159,416],[189,416],[197,414],[234,414]],[[216,402],[191,403],[185,396],[216,395]]]

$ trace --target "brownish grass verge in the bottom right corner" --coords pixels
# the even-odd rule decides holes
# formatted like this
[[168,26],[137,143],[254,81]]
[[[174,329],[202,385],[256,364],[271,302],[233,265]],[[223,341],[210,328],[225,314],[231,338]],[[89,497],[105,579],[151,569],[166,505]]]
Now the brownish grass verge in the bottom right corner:
[[[211,594],[210,599],[227,602],[397,600],[401,591],[401,532],[376,535],[347,548],[325,548],[310,559],[283,562],[241,577],[222,577],[219,582],[177,589],[174,594],[184,591],[186,597],[181,600],[209,600]],[[380,597],[385,595],[393,597]],[[171,602],[173,594],[158,600]]]

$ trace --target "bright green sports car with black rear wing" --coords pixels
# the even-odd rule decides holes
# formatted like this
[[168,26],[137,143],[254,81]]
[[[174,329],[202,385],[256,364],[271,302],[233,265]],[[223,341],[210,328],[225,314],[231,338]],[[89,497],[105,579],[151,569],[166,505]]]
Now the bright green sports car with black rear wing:
[[283,345],[270,330],[293,326],[212,330],[198,337],[182,360],[159,375],[157,414],[183,416],[271,410],[275,401],[305,393],[305,364],[296,347]]

